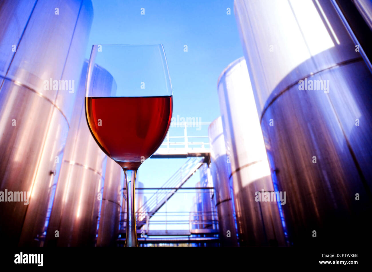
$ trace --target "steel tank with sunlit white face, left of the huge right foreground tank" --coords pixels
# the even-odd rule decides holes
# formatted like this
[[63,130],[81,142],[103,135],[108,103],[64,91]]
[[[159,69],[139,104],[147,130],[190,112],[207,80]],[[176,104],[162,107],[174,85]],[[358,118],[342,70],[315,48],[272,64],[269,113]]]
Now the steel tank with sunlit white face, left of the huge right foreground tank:
[[241,246],[285,245],[277,201],[256,201],[275,190],[244,58],[232,62],[217,83],[226,153],[231,163]]

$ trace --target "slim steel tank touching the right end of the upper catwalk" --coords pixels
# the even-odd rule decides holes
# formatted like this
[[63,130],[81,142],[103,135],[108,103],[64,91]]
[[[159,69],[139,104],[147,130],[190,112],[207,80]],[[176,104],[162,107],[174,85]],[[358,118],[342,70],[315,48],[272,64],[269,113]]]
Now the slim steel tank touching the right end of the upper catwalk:
[[221,246],[237,246],[237,231],[234,219],[234,202],[231,194],[230,164],[227,163],[225,139],[221,117],[208,128],[211,146],[211,174],[215,188],[215,205],[218,215],[218,230]]

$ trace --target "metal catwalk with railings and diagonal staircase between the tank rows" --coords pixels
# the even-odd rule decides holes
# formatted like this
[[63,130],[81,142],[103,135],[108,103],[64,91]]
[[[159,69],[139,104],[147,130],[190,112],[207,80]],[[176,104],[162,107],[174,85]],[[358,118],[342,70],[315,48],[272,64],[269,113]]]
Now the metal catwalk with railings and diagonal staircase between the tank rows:
[[[151,158],[188,158],[185,163],[161,186],[157,188],[137,188],[137,193],[150,197],[137,208],[137,236],[140,244],[156,243],[218,243],[218,220],[215,210],[191,212],[160,212],[167,201],[176,193],[209,194],[210,207],[214,204],[214,187],[182,187],[203,164],[210,162],[208,136],[189,136],[190,124],[172,123],[183,129],[182,135],[170,130],[160,148]],[[199,122],[209,125],[210,122]],[[173,135],[170,135],[173,131]],[[152,193],[153,192],[153,193]],[[164,209],[162,209],[164,210]],[[121,213],[118,245],[125,243],[126,211]]]

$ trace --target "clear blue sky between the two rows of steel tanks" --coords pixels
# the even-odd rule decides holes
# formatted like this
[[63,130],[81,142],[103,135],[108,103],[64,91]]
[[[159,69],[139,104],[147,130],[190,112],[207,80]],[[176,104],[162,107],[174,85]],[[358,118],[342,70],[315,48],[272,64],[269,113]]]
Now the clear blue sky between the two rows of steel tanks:
[[[161,43],[173,89],[173,116],[211,122],[220,115],[218,76],[228,64],[243,56],[233,0],[92,0],[92,3],[94,17],[86,58],[89,59],[93,44]],[[144,15],[141,8],[145,9]],[[183,129],[171,128],[170,132],[180,135]],[[187,132],[208,135],[206,126]],[[148,159],[138,171],[138,181],[145,187],[161,186],[184,161]],[[187,186],[194,186],[197,181],[199,173]]]

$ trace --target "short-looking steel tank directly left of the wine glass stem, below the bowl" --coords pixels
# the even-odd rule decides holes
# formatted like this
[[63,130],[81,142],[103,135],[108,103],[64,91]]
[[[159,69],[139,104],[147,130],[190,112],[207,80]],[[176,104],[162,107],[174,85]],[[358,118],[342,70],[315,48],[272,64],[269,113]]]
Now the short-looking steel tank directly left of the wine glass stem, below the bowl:
[[119,164],[107,159],[97,246],[116,246],[124,188],[124,172]]

